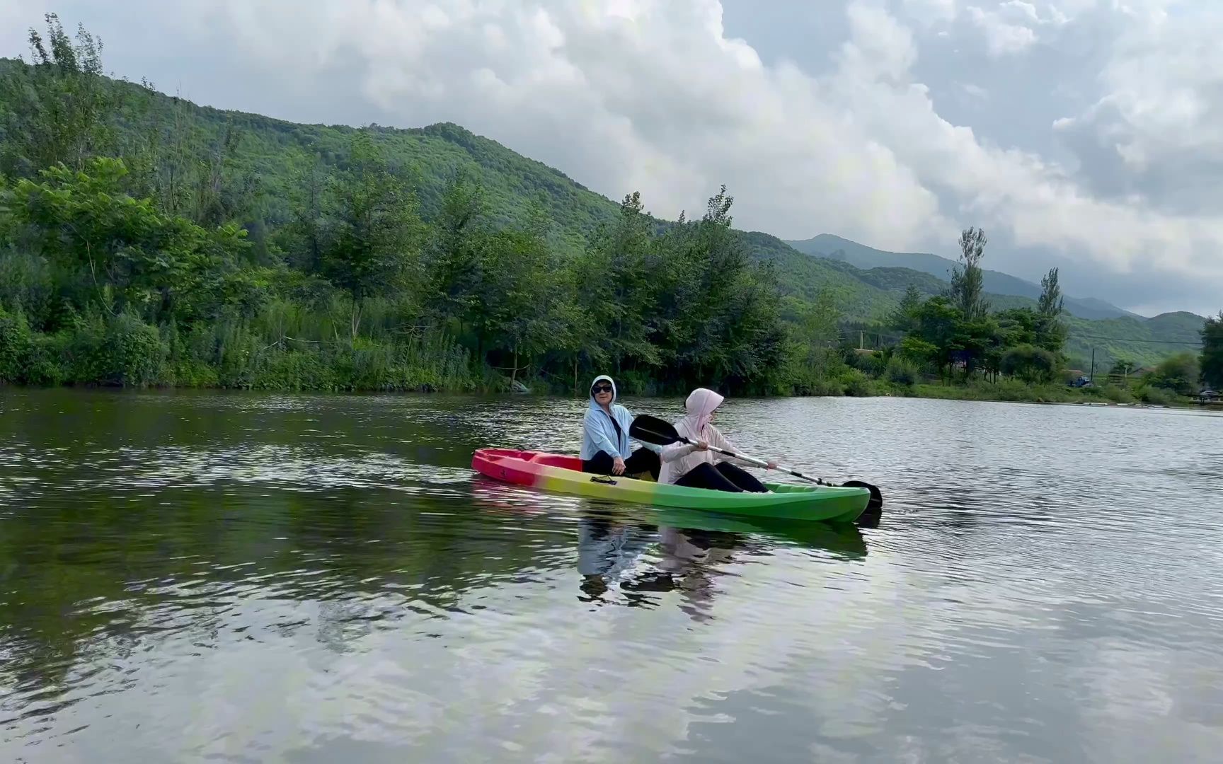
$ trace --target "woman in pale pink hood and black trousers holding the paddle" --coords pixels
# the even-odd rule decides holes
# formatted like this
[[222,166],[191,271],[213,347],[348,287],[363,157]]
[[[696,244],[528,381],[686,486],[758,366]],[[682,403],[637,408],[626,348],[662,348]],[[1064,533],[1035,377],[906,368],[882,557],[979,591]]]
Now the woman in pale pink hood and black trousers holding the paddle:
[[[706,388],[697,388],[689,395],[684,402],[687,416],[675,423],[675,429],[692,443],[674,443],[663,447],[659,454],[663,461],[663,468],[658,474],[659,483],[731,493],[768,493],[768,489],[752,474],[731,465],[729,457],[709,451],[709,446],[726,451],[739,450],[712,424],[713,411],[723,400],[723,396]],[[769,469],[774,467],[777,465],[773,462],[768,463]]]

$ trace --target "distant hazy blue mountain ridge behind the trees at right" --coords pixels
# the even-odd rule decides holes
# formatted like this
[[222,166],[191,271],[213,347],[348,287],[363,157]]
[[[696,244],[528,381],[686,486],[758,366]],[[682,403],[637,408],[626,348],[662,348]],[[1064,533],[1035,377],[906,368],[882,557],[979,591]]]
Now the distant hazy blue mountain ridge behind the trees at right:
[[[951,268],[956,264],[955,260],[928,252],[887,252],[841,238],[840,236],[833,236],[832,233],[821,233],[813,238],[786,241],[785,243],[804,254],[841,260],[863,270],[872,268],[909,268],[937,276],[943,281],[950,280]],[[987,292],[996,295],[1011,295],[1015,297],[1030,297],[1032,299],[1037,299],[1041,296],[1041,285],[997,270],[985,271],[985,287]],[[1079,318],[1146,318],[1095,297],[1068,296],[1065,298],[1065,308],[1068,313]]]

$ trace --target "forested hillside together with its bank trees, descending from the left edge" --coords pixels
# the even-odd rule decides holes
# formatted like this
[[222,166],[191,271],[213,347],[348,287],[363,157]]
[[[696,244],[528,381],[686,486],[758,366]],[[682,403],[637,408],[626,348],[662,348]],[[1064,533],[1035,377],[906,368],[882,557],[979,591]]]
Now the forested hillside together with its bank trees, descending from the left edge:
[[[735,230],[725,188],[664,221],[456,125],[198,106],[104,77],[83,29],[51,17],[40,39],[33,64],[0,60],[0,380],[580,389],[612,369],[640,391],[839,390],[838,342],[895,343],[898,308],[949,288]],[[1071,318],[1070,362],[1091,343],[1153,362],[1177,348],[1130,339],[1189,346],[1201,319],[1177,315]],[[1027,336],[999,331],[974,341]]]

